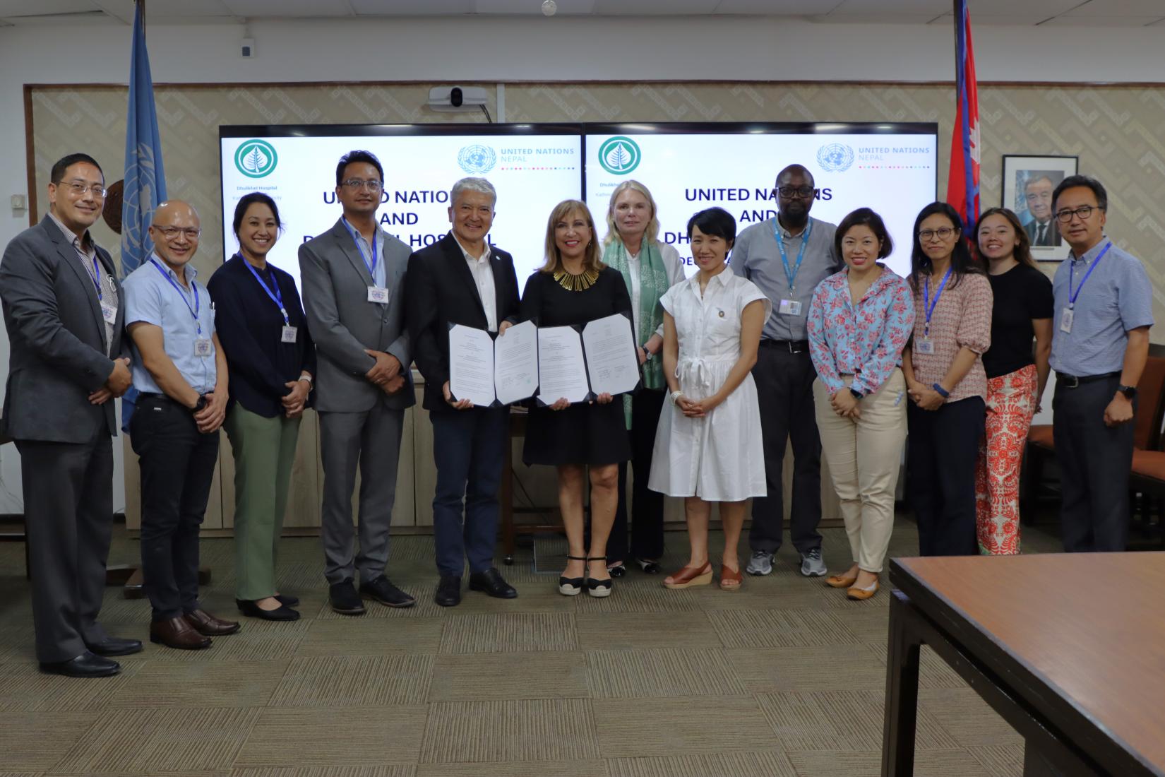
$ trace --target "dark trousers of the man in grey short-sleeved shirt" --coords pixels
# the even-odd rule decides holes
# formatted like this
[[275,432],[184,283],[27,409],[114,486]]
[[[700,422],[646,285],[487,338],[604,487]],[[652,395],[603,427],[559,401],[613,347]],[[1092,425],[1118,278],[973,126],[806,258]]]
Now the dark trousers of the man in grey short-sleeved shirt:
[[821,546],[817,527],[821,522],[821,438],[813,410],[817,373],[809,351],[790,353],[788,347],[767,346],[761,340],[753,380],[761,402],[761,435],[764,438],[767,496],[753,500],[753,527],[748,546],[753,551],[777,552],[784,525],[783,472],[785,446],[792,440],[793,494],[789,536],[793,548],[806,553]]

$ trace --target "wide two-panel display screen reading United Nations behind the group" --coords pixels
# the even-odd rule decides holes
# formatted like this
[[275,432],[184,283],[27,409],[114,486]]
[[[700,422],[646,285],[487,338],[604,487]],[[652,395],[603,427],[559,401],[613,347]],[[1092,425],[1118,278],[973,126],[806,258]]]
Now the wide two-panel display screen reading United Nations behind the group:
[[812,216],[836,224],[856,207],[874,207],[895,241],[888,262],[905,274],[915,216],[935,198],[937,133],[933,123],[824,122],[224,126],[224,246],[227,256],[238,247],[231,224],[239,198],[267,192],[285,226],[270,260],[298,281],[299,243],[340,217],[337,162],[367,149],[384,167],[380,221],[414,250],[449,231],[449,190],[458,178],[488,178],[497,189],[489,241],[514,255],[521,289],[544,262],[557,203],[585,199],[601,239],[612,190],[634,178],[658,204],[659,239],[692,274],[687,219],[720,206],[737,231],[771,227],[776,174],[800,163],[816,179]]

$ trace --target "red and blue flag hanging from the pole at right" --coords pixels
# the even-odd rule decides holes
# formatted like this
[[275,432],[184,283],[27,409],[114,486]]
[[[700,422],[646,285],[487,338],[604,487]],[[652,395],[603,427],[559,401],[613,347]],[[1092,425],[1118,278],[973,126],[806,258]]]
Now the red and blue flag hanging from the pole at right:
[[975,52],[970,44],[967,0],[954,0],[955,119],[951,135],[951,172],[947,203],[962,217],[963,234],[979,220],[979,90],[975,87]]

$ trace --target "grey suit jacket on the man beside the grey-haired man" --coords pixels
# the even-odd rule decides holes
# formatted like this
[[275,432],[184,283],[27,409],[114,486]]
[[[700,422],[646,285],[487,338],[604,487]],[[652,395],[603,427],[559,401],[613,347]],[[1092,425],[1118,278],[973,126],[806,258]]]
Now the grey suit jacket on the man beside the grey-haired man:
[[[384,234],[381,261],[389,297],[387,305],[380,305],[368,302],[372,275],[343,221],[299,246],[303,309],[318,355],[316,410],[362,412],[377,398],[403,410],[416,402],[404,320],[404,270],[410,253],[403,242]],[[365,377],[375,363],[365,348],[401,360],[403,389],[389,396]]]

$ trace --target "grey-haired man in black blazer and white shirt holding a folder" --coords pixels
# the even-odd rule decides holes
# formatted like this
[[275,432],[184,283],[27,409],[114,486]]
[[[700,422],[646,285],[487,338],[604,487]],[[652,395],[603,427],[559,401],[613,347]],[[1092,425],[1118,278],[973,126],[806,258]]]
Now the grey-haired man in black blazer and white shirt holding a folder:
[[453,184],[449,202],[452,231],[409,256],[404,278],[409,339],[425,377],[423,404],[433,425],[433,539],[440,573],[436,601],[443,607],[461,601],[466,558],[472,591],[499,599],[517,596],[493,564],[509,409],[475,408],[468,400],[457,400],[449,383],[450,325],[501,337],[517,323],[517,277],[514,257],[486,240],[497,202],[493,184],[463,178]]

